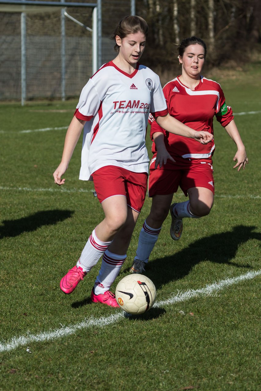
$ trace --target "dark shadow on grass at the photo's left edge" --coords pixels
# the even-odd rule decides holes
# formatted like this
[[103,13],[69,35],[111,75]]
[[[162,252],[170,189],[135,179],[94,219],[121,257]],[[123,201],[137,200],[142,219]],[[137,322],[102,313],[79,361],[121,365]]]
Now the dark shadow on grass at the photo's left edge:
[[21,219],[3,220],[2,224],[4,225],[0,226],[0,239],[18,236],[23,232],[35,231],[43,225],[57,224],[59,221],[71,217],[73,213],[72,210],[43,210]]

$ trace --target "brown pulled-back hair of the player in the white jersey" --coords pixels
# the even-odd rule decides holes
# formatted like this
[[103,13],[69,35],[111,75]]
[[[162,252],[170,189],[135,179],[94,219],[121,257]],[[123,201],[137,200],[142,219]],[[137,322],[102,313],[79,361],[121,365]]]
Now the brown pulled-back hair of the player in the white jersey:
[[[111,38],[115,40],[116,35],[121,39],[126,37],[128,34],[136,34],[137,32],[142,32],[146,38],[148,38],[149,26],[143,18],[140,16],[125,16],[115,27]],[[120,47],[117,45],[114,46],[114,50],[119,52]]]

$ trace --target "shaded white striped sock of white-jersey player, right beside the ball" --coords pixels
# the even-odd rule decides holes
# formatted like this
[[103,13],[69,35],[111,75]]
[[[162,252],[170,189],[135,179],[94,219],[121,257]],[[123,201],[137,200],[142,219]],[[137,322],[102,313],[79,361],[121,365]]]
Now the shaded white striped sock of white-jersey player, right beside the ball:
[[94,293],[101,294],[109,291],[112,283],[119,274],[127,255],[117,255],[106,250],[103,254],[101,269],[94,283]]

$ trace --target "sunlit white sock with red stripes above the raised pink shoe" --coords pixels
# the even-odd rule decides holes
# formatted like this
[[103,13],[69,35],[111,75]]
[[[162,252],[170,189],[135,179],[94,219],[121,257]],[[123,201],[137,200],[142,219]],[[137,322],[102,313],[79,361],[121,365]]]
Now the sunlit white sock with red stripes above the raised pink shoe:
[[76,266],[81,266],[83,271],[89,272],[92,267],[97,264],[98,260],[111,243],[112,242],[102,242],[97,238],[95,230],[93,230]]

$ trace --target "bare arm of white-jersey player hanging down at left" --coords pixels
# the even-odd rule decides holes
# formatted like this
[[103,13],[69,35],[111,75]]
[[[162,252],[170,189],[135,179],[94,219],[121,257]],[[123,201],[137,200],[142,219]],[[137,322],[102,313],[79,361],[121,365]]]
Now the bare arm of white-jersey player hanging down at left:
[[79,140],[79,137],[81,135],[81,131],[83,130],[83,126],[86,121],[79,120],[75,116],[72,118],[72,121],[68,127],[66,136],[65,136],[65,142],[63,147],[63,156],[61,158],[61,163],[57,167],[57,169],[54,171],[54,183],[57,183],[57,185],[63,185],[65,182],[65,179],[61,179],[61,176],[65,173],[65,171],[68,168],[69,161],[72,157],[72,153],[74,151],[74,148],[77,144],[77,141]]

